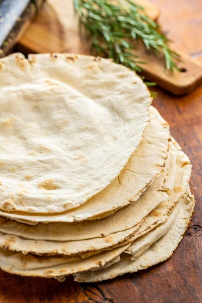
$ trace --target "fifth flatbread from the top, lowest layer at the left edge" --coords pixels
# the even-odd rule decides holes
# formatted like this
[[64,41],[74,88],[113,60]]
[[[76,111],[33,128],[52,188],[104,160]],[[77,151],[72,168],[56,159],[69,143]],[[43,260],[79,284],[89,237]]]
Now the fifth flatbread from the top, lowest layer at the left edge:
[[[0,249],[0,268],[8,273],[20,276],[57,278],[89,269],[102,268],[118,257],[129,244],[104,251],[88,259],[81,257],[39,257],[9,252]],[[116,259],[115,259],[116,260]]]

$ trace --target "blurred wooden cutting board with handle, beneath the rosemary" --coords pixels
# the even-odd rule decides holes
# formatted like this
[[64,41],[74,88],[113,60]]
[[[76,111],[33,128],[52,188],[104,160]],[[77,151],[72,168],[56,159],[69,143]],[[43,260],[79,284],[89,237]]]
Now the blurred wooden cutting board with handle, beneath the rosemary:
[[[146,13],[156,20],[159,8],[149,0],[136,0],[145,7]],[[81,38],[78,22],[73,12],[73,0],[65,2],[49,0],[33,23],[17,44],[17,48],[28,53],[78,53],[89,54],[89,41]],[[177,30],[177,29],[176,29]],[[157,58],[146,51],[144,47],[137,47],[134,52],[147,64],[142,65],[143,75],[151,81],[157,82],[163,88],[183,95],[192,91],[202,82],[202,66],[196,60],[183,55],[182,63],[178,64],[181,72],[173,74],[166,71],[162,58]]]

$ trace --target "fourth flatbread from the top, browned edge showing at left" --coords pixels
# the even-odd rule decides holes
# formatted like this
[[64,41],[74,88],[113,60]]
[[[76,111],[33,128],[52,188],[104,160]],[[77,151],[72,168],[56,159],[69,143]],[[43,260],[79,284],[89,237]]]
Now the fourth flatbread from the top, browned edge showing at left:
[[[0,232],[0,248],[9,251],[18,251],[23,255],[27,255],[31,252],[32,254],[38,256],[72,256],[84,254],[86,251],[91,251],[92,254],[90,255],[96,255],[101,250],[109,249],[111,246],[117,245],[118,243],[120,243],[120,245],[124,245],[125,243],[122,244],[122,242],[128,240],[131,237],[131,235],[141,225],[142,221],[140,221],[132,228],[112,233],[105,237],[78,241],[32,240]],[[84,257],[89,257],[89,255],[82,256],[82,258]]]

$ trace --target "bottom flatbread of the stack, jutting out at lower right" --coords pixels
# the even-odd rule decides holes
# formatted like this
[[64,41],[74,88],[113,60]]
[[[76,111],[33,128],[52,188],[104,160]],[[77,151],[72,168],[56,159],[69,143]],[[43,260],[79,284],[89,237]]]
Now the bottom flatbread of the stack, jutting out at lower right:
[[100,269],[94,272],[86,272],[77,274],[75,281],[77,282],[98,282],[107,279],[113,279],[125,273],[134,273],[138,270],[146,269],[150,266],[161,263],[173,254],[184,232],[194,208],[194,197],[185,194],[180,200],[180,207],[175,221],[169,231],[157,242],[151,245],[139,258],[132,261],[128,254],[121,255],[121,261],[111,265],[106,269]]

